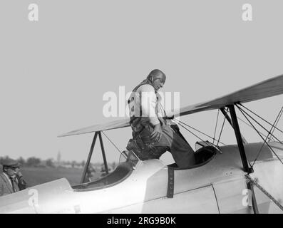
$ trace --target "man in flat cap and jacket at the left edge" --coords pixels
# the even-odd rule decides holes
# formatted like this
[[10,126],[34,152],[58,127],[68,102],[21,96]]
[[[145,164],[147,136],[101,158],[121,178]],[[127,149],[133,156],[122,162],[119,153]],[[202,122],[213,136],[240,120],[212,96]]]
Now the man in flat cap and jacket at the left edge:
[[0,172],[0,197],[26,189],[26,182],[16,160],[9,159],[1,165],[3,172]]

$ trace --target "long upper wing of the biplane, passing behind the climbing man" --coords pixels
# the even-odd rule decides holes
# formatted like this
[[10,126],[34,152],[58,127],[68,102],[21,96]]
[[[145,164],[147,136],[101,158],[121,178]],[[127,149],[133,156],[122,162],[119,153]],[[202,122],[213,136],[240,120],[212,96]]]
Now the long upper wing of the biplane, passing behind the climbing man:
[[[263,98],[269,98],[274,95],[283,93],[283,75],[274,78],[269,78],[266,81],[257,83],[254,86],[249,86],[242,90],[238,90],[235,93],[216,98],[203,103],[197,103],[196,105],[189,105],[180,108],[180,112],[175,113],[175,116],[182,116],[192,113],[198,113],[205,110],[212,110],[225,107],[226,105],[232,105],[233,103],[246,103],[253,100],[259,100]],[[79,135],[85,133],[93,133],[100,130],[110,130],[115,128],[125,128],[130,126],[129,118],[123,120],[115,120],[109,123],[101,125],[93,125],[88,128],[81,128],[79,130],[73,130],[69,133],[59,135],[59,137],[67,135]]]

